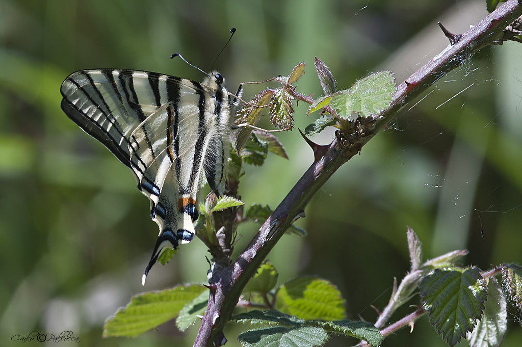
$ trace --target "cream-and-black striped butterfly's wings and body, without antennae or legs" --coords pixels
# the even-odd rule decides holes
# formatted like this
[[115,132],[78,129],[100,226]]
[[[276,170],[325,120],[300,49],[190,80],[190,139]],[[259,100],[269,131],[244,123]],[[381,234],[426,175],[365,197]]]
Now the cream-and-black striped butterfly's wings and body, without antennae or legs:
[[132,70],[84,70],[61,87],[62,110],[131,168],[160,229],[143,283],[165,247],[192,240],[201,171],[221,195],[230,100],[220,74],[203,83]]

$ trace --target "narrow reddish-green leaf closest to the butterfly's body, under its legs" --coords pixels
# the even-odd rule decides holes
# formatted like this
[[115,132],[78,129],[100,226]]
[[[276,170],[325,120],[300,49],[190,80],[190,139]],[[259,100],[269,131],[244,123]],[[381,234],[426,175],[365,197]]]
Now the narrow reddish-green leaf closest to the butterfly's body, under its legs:
[[[268,105],[268,102],[270,101],[272,96],[274,96],[274,92],[275,90],[265,89],[259,92],[254,97],[252,97],[252,99],[248,101],[248,103],[252,106],[243,106],[243,108],[236,115],[234,125],[244,123],[250,125],[257,125],[261,112],[263,111],[263,109],[267,109],[262,106]],[[243,147],[245,146],[246,141],[250,136],[251,132],[252,128],[250,126],[244,126],[237,132],[235,141],[235,150],[237,153],[241,152],[241,149],[243,149]]]

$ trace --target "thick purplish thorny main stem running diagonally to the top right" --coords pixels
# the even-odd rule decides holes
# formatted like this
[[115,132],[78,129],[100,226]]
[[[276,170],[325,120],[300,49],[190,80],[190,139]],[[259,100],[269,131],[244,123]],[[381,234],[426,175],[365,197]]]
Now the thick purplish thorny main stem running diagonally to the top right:
[[[376,122],[351,128],[350,133],[337,133],[336,139],[326,146],[324,155],[314,160],[240,256],[227,267],[213,268],[208,286],[208,306],[194,346],[220,346],[227,342],[223,328],[232,316],[232,310],[238,303],[244,286],[288,227],[296,219],[304,216],[305,206],[333,173],[359,153],[361,147],[381,130],[391,117],[396,116],[403,106],[449,71],[464,63],[474,52],[487,45],[502,44],[507,39],[513,39],[520,30],[520,20],[517,21],[520,16],[522,0],[508,0],[476,26],[461,36],[455,36],[458,39],[454,44],[449,45],[401,83],[391,105],[378,115],[381,117],[377,118]],[[353,140],[356,140],[356,143]],[[412,315],[407,319],[411,323],[421,316],[421,312],[416,311]]]

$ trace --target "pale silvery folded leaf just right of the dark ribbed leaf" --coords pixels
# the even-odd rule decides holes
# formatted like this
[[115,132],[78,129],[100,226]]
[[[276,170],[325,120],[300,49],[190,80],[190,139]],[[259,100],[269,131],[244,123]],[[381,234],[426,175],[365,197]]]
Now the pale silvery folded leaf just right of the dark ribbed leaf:
[[489,279],[484,313],[466,340],[471,347],[498,347],[507,329],[506,297],[494,277]]

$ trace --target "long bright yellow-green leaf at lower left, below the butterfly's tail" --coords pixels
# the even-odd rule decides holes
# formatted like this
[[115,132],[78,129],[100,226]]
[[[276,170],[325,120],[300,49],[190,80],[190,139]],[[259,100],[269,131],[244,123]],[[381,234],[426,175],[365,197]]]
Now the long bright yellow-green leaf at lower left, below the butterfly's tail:
[[177,316],[185,304],[203,291],[206,288],[201,285],[189,285],[135,295],[126,307],[105,321],[103,337],[136,337]]

